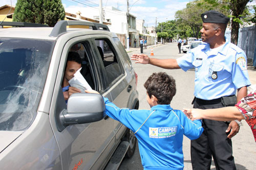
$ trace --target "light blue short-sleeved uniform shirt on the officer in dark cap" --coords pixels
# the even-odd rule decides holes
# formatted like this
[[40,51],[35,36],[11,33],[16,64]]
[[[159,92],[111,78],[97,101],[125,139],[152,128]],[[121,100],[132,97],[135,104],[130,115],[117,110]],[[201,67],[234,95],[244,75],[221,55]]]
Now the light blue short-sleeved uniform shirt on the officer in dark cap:
[[[227,39],[218,51],[210,51],[209,44],[202,43],[177,63],[184,71],[195,67],[194,95],[199,99],[233,95],[238,88],[250,85],[245,53]],[[212,71],[217,72],[217,79],[211,78]]]

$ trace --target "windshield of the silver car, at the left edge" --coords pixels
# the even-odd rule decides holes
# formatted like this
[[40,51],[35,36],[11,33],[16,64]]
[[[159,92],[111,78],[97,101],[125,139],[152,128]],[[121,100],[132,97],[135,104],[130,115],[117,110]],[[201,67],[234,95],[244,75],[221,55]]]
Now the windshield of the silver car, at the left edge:
[[1,38],[0,131],[21,131],[36,115],[54,41]]

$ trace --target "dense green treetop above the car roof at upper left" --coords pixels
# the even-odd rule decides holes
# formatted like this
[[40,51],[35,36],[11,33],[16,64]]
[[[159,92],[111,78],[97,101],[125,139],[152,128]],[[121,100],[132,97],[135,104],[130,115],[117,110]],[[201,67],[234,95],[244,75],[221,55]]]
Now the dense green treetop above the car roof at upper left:
[[13,21],[47,24],[53,27],[65,18],[61,0],[17,0]]

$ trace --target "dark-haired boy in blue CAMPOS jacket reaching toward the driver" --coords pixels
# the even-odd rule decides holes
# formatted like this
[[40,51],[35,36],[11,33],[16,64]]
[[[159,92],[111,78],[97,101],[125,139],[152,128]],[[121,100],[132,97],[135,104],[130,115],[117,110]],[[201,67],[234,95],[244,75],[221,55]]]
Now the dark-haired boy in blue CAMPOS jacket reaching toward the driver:
[[197,139],[203,132],[201,120],[192,122],[181,110],[170,107],[176,93],[172,76],[154,73],[144,87],[151,110],[120,109],[104,98],[105,113],[134,132],[144,169],[183,169],[183,135]]

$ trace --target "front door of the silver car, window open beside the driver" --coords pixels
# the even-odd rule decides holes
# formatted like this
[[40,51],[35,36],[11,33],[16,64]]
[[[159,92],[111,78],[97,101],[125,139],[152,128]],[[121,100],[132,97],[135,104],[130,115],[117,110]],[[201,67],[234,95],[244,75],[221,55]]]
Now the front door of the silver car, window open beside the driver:
[[104,81],[101,76],[101,65],[97,59],[99,56],[93,54],[92,48],[90,36],[81,36],[69,40],[61,54],[50,110],[50,121],[61,153],[63,169],[102,168],[108,161],[115,142],[113,119],[111,118],[105,117],[99,122],[68,127],[60,127],[57,121],[57,115],[67,109],[61,91],[61,82],[69,51],[77,52],[80,55],[82,67],[90,67],[94,89],[111,99],[110,92],[102,88]]

